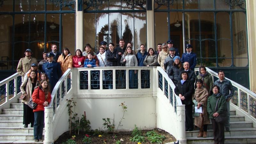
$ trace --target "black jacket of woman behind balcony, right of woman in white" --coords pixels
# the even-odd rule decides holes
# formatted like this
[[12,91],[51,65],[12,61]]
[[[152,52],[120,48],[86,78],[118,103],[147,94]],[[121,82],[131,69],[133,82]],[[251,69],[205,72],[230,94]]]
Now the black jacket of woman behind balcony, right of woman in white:
[[119,66],[119,63],[118,63],[119,55],[118,55],[118,52],[116,52],[116,49],[113,50],[113,52],[111,52],[110,50],[106,52],[106,60],[107,60],[106,62],[107,67]]

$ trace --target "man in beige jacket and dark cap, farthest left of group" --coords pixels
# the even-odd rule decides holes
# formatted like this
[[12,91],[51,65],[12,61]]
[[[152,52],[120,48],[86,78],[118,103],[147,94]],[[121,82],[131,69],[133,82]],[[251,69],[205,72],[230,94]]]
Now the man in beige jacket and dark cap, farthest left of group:
[[25,57],[21,58],[18,66],[17,66],[17,73],[22,76],[22,82],[24,80],[25,74],[28,72],[30,69],[30,66],[32,63],[35,63],[38,65],[36,58],[32,58],[31,55],[33,54],[30,49],[27,49],[25,52]]

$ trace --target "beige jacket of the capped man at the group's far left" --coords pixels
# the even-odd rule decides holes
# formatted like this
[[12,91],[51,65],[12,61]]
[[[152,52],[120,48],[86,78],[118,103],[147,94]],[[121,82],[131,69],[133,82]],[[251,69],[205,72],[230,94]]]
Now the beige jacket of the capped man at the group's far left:
[[24,79],[26,72],[31,68],[32,63],[38,65],[36,58],[30,57],[30,59],[28,59],[28,57],[25,56],[25,58],[20,59],[17,66],[17,73],[22,76],[22,80]]

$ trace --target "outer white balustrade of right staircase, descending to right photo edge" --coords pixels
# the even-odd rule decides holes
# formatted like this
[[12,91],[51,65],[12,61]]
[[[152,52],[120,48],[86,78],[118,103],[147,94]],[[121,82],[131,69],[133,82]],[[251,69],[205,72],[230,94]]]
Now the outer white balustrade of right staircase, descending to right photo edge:
[[[208,71],[211,75],[214,81],[218,80],[218,74],[214,71],[212,71],[209,68],[206,68],[206,71]],[[199,68],[195,68],[195,72],[199,72]],[[228,79],[226,77],[226,79]],[[235,93],[233,95],[233,98],[230,102],[230,108],[236,110],[236,114],[245,116],[246,121],[253,122],[253,126],[256,127],[256,94],[244,86],[237,84],[236,82],[228,79],[235,89]]]

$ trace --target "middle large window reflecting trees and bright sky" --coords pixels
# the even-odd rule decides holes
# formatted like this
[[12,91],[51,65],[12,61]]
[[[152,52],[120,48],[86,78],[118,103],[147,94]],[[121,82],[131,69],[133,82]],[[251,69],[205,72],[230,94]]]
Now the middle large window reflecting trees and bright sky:
[[121,38],[126,44],[131,42],[133,50],[147,45],[146,0],[103,0],[96,4],[84,0],[84,45],[91,44],[96,52],[101,41],[117,47]]

